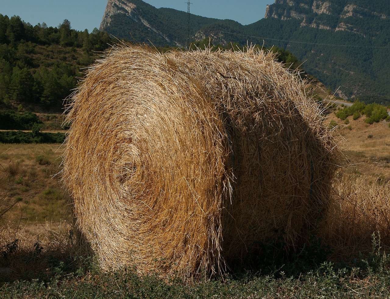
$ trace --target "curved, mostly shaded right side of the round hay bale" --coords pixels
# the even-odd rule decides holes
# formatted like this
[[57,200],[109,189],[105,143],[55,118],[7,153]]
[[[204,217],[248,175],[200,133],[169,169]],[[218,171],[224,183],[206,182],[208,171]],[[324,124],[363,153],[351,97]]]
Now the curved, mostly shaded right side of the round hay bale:
[[335,134],[305,84],[255,48],[167,57],[223,107],[234,164],[232,203],[222,207],[223,258],[245,259],[269,237],[283,236],[292,246],[305,241],[331,204],[340,160]]

